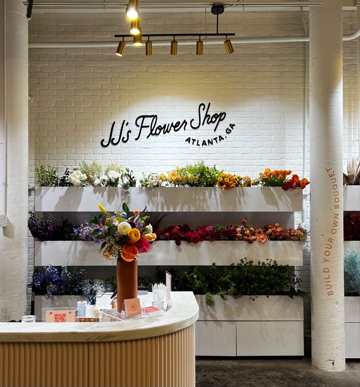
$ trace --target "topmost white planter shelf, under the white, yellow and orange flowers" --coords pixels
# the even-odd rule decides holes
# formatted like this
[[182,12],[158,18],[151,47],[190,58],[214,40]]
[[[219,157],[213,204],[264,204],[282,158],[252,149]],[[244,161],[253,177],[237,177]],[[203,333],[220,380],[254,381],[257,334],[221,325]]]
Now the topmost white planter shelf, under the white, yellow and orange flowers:
[[233,188],[121,188],[37,187],[37,212],[94,212],[100,203],[107,211],[121,211],[123,202],[130,210],[151,212],[300,212],[303,191],[281,187]]

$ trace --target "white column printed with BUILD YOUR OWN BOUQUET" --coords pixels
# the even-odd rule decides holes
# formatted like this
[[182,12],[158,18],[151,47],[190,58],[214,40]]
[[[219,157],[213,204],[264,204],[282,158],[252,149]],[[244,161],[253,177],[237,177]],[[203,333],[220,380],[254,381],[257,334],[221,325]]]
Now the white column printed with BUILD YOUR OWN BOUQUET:
[[345,369],[342,0],[310,9],[312,364]]

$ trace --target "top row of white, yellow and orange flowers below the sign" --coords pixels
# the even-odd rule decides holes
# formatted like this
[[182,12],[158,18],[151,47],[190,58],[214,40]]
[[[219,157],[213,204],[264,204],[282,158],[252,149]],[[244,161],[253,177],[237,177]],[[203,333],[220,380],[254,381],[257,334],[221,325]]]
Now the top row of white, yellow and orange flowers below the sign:
[[[90,164],[83,161],[72,172],[67,168],[64,176],[57,176],[58,167],[40,165],[36,169],[38,184],[40,186],[93,186],[93,187],[122,187],[130,193],[130,187],[136,187],[136,179],[129,168],[120,167],[117,163],[109,163],[105,167],[96,160]],[[300,179],[298,175],[289,175],[291,170],[271,170],[265,168],[258,178],[225,173],[216,169],[216,166],[208,167],[203,161],[195,164],[187,164],[185,167],[175,167],[168,173],[152,172],[147,176],[143,173],[140,179],[140,187],[218,187],[221,190],[229,190],[235,187],[282,187],[304,189],[309,180]],[[358,173],[359,174],[359,173]]]

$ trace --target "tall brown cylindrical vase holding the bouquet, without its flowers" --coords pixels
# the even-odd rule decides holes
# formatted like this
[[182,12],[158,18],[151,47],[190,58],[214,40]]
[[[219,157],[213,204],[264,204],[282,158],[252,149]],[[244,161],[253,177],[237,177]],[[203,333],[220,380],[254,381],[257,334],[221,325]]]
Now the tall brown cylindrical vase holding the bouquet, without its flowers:
[[124,300],[138,296],[138,260],[126,262],[118,259],[116,280],[118,283],[118,312],[121,313]]

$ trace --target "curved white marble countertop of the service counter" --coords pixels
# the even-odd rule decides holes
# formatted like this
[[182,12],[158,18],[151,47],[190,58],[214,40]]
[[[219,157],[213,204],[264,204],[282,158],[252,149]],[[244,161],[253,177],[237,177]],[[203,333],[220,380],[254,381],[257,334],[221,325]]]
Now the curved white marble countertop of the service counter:
[[[151,293],[139,296],[151,305]],[[171,292],[171,309],[159,316],[119,322],[0,323],[0,342],[121,341],[176,332],[192,325],[199,307],[191,291]]]

